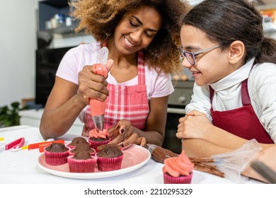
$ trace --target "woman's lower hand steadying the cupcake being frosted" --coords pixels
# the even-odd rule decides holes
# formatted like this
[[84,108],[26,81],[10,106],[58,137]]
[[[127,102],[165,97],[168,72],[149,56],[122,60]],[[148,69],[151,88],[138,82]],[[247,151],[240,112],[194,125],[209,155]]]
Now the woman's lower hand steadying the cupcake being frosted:
[[108,129],[108,135],[113,139],[110,144],[120,144],[122,146],[129,144],[146,145],[146,138],[139,137],[136,133],[137,130],[139,129],[133,127],[130,121],[120,120],[116,126]]

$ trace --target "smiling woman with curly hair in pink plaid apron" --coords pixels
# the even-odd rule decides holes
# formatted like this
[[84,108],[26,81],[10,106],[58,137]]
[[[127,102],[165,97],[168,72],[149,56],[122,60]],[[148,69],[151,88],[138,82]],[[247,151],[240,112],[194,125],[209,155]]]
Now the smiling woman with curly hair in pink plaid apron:
[[[113,143],[125,146],[163,143],[171,73],[180,69],[180,26],[188,8],[181,0],[71,2],[76,30],[96,42],[69,50],[59,64],[40,122],[44,139],[65,134],[74,120],[84,122],[83,136],[95,128],[89,98],[106,100],[105,129]],[[93,74],[101,47],[108,47],[108,77]]]

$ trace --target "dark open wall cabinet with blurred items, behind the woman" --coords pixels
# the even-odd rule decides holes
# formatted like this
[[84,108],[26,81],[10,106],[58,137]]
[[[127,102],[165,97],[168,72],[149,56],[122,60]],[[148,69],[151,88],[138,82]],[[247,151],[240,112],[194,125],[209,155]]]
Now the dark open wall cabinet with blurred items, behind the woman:
[[40,32],[74,33],[77,21],[69,17],[69,0],[47,0],[38,2],[38,30]]

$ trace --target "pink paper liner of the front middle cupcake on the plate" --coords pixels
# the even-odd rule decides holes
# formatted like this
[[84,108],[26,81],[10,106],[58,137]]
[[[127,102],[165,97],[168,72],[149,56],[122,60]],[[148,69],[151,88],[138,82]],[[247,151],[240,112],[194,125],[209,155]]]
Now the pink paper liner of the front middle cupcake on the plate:
[[73,156],[67,158],[71,173],[93,173],[95,171],[97,157],[91,156],[87,160],[76,160]]

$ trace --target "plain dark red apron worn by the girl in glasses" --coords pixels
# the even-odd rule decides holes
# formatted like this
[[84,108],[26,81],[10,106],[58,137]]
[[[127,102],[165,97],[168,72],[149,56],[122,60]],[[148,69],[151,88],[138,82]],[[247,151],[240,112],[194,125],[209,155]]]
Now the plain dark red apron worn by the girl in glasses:
[[[214,89],[211,86],[209,86],[209,89],[212,104]],[[240,136],[243,139],[256,139],[259,143],[274,144],[268,132],[260,124],[257,115],[255,115],[248,94],[247,79],[241,84],[241,101],[243,106],[234,110],[214,111],[211,106],[214,126]]]

